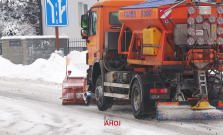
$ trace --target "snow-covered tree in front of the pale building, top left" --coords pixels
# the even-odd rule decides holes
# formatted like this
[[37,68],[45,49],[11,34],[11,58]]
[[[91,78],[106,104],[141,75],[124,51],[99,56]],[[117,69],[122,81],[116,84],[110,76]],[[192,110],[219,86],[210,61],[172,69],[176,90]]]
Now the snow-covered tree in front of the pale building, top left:
[[2,36],[36,35],[40,31],[38,0],[2,0],[0,31]]

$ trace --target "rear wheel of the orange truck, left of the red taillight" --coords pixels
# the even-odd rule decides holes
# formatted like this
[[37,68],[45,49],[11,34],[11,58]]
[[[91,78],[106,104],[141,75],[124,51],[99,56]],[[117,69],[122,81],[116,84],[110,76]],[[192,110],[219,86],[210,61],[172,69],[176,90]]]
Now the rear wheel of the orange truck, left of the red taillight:
[[139,82],[134,81],[132,85],[131,93],[131,107],[133,115],[136,119],[143,118],[143,103],[142,103],[142,90],[140,88]]

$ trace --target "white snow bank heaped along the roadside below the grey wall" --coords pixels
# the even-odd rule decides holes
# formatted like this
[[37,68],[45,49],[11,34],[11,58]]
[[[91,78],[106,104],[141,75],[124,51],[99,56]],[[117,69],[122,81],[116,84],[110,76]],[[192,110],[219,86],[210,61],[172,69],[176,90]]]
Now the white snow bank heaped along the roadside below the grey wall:
[[[72,51],[68,70],[72,71],[72,76],[86,76],[88,66],[85,64],[86,51]],[[0,56],[0,77],[19,79],[41,79],[44,81],[62,83],[66,74],[66,57],[53,53],[48,60],[37,59],[31,65],[16,65]]]

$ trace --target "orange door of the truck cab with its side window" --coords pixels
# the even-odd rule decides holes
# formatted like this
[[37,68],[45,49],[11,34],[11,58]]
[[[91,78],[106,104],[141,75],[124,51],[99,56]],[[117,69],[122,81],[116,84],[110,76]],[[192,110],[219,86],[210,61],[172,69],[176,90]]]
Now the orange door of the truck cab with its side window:
[[97,45],[97,18],[98,18],[98,9],[93,8],[90,12],[90,25],[89,25],[89,37],[88,37],[88,64],[93,65],[94,63],[94,53],[96,52]]

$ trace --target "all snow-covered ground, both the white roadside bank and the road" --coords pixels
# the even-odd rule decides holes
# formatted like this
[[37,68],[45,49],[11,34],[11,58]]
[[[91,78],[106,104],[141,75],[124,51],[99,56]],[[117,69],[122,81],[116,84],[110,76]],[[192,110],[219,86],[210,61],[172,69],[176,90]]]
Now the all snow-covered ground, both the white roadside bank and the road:
[[[85,76],[86,52],[69,55],[73,76]],[[223,120],[161,122],[136,120],[129,105],[99,112],[95,105],[61,105],[66,58],[52,54],[32,65],[14,65],[0,57],[0,135],[223,135]],[[121,126],[104,126],[104,117]]]

